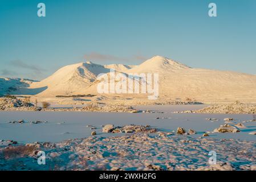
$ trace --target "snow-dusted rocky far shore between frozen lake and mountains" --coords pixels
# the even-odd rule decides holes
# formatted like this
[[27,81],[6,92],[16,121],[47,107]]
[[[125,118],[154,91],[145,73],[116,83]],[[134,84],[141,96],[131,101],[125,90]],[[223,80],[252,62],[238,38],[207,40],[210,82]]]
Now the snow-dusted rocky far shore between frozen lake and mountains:
[[[187,105],[181,104],[181,105]],[[193,104],[189,103],[189,104]],[[189,105],[188,104],[188,105]],[[94,111],[112,113],[162,113],[162,111],[137,110],[129,105],[109,105],[90,102],[83,107],[39,107],[31,102],[18,98],[0,97],[0,111]],[[235,102],[226,105],[211,105],[199,110],[174,111],[173,113],[198,113],[198,114],[256,114],[256,105]]]

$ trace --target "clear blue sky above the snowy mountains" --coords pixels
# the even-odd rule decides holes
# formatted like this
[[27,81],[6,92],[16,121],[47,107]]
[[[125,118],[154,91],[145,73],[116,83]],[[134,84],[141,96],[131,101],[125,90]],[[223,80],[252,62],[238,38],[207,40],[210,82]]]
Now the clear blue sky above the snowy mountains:
[[87,59],[140,64],[154,55],[256,74],[255,19],[255,0],[1,0],[0,76],[40,80]]

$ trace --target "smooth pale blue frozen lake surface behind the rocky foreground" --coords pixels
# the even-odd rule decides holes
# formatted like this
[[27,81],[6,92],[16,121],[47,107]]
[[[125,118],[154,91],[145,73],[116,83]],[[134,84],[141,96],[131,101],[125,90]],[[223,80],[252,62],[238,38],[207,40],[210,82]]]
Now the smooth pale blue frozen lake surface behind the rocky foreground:
[[[173,114],[177,110],[200,109],[205,105],[163,105],[137,106],[137,109],[164,111],[164,113],[96,113],[96,112],[64,112],[64,111],[1,111],[0,139],[11,139],[21,142],[60,142],[65,139],[90,137],[92,130],[87,125],[96,127],[96,133],[102,137],[122,134],[102,133],[101,125],[113,124],[124,126],[129,124],[151,125],[159,131],[170,132],[177,127],[187,131],[197,131],[194,138],[201,137],[206,131],[213,131],[224,124],[224,118],[234,118],[234,123],[242,123],[253,119],[252,114]],[[159,119],[156,119],[159,118]],[[205,118],[217,118],[208,121]],[[8,123],[24,119],[25,123]],[[31,124],[30,121],[47,121],[47,123]],[[27,123],[26,123],[27,122]],[[211,138],[232,138],[256,140],[256,122],[243,123],[246,128],[240,133],[211,133]]]

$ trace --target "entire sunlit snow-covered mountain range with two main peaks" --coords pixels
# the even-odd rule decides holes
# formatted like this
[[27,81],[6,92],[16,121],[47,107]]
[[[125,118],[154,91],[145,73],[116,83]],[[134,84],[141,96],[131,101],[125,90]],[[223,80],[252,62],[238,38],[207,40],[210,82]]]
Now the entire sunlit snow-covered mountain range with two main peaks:
[[[198,101],[214,101],[221,98],[221,100],[256,102],[255,75],[190,68],[162,56],[154,56],[137,66],[99,65],[89,61],[67,65],[40,82],[26,82],[29,85],[26,91],[38,97],[89,93],[98,95],[96,77],[100,73],[109,73],[110,69],[123,72],[126,76],[133,73],[159,73],[159,93],[160,97],[164,98],[188,97],[196,98]],[[6,81],[2,82],[2,85],[0,82],[2,93],[6,92],[6,88],[11,87],[10,84],[8,86],[6,84]],[[19,86],[18,83],[17,85]],[[124,94],[123,97],[129,96]]]

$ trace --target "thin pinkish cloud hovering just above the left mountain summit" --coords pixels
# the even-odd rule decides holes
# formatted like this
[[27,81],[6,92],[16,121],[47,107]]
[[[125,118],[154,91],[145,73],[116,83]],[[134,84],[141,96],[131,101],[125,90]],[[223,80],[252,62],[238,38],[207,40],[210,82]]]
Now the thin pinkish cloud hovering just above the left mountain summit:
[[129,59],[124,57],[118,57],[113,55],[103,55],[97,52],[91,52],[84,55],[84,58],[87,60],[97,60],[97,61],[129,61]]

